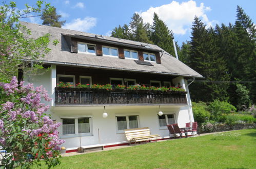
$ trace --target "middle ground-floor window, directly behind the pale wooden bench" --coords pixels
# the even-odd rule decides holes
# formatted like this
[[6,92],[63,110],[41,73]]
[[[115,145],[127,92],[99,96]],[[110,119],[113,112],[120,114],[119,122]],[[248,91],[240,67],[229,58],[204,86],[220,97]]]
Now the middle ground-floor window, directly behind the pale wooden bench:
[[116,116],[117,131],[139,128],[138,116]]

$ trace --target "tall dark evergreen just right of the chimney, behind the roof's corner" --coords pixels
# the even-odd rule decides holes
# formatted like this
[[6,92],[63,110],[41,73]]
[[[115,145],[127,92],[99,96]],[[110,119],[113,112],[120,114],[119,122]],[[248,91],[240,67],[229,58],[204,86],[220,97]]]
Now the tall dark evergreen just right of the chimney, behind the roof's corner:
[[[200,18],[195,17],[192,26],[188,65],[200,72],[206,80],[228,81],[226,61],[219,55],[220,48],[213,28],[206,29]],[[196,101],[227,100],[228,83],[194,82],[192,98]],[[206,95],[206,93],[208,93]]]

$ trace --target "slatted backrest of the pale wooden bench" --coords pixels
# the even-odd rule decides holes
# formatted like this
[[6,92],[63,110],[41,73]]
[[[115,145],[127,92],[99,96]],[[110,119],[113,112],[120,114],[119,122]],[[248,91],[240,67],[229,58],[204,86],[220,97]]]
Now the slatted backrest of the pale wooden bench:
[[131,138],[134,138],[134,137],[143,137],[143,136],[149,136],[149,135],[150,135],[150,130],[148,127],[125,130],[125,136],[127,140],[130,140]]

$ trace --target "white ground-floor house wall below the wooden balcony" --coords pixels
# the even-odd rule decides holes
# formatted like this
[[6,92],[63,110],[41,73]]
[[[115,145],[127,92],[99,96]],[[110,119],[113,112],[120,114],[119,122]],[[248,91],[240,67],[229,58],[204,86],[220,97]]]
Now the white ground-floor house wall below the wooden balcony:
[[[122,107],[106,107],[108,113],[107,118],[103,118],[103,106],[101,107],[55,107],[53,112],[53,119],[57,122],[62,122],[62,118],[77,118],[77,117],[91,117],[92,118],[92,135],[81,136],[81,146],[88,146],[94,144],[111,145],[127,143],[124,133],[117,132],[116,116],[139,116],[140,128],[149,127],[151,134],[159,134],[162,138],[169,137],[167,127],[160,128],[158,112],[158,105],[154,106],[122,106]],[[189,122],[187,107],[178,105],[164,105],[161,106],[161,111],[164,114],[174,114],[175,121],[178,122],[180,128],[185,127],[185,123]],[[98,133],[99,129],[99,133]],[[64,146],[68,150],[77,149],[80,146],[80,137],[78,135],[62,135],[62,126],[59,129],[60,137],[65,139]],[[100,140],[99,140],[100,135]]]

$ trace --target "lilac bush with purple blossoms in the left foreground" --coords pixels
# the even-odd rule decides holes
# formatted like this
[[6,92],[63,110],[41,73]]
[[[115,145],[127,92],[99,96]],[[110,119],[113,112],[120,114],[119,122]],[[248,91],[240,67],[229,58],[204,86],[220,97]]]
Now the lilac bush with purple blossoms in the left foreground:
[[[16,77],[10,83],[0,83],[0,145],[7,151],[2,164],[13,168],[18,162],[22,167],[40,164],[44,159],[51,167],[60,163],[60,145],[57,128],[61,123],[44,114],[50,101],[43,87],[18,84]],[[15,164],[16,165],[16,164]]]

